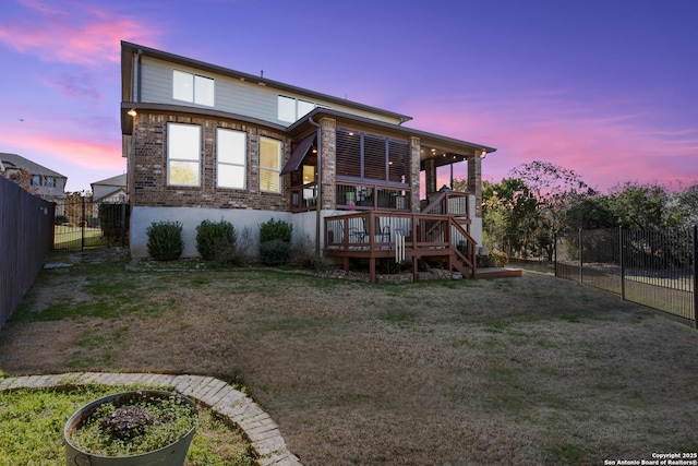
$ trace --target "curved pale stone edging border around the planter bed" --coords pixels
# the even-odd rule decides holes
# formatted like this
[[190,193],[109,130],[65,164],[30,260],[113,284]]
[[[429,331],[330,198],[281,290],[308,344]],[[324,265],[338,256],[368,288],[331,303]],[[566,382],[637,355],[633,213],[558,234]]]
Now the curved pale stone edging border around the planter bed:
[[238,426],[257,453],[260,466],[302,466],[300,459],[286,447],[279,428],[269,415],[244,393],[213,377],[67,372],[0,378],[0,391],[91,384],[171,387]]

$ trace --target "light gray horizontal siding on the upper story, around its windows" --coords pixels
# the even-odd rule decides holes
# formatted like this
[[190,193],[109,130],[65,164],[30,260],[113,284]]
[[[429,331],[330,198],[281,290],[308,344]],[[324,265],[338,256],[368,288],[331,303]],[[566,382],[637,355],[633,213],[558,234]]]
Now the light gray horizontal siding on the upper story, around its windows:
[[[302,94],[278,91],[273,87],[261,86],[256,83],[240,81],[209,72],[200,72],[193,68],[172,64],[167,61],[157,60],[149,57],[143,57],[143,81],[141,88],[141,98],[143,103],[186,105],[193,107],[210,108],[190,103],[182,103],[181,100],[176,100],[172,98],[173,69],[213,77],[215,80],[214,108],[220,111],[245,115],[281,126],[289,126],[289,122],[280,121],[277,119],[277,100],[278,95],[281,94],[288,97],[296,97],[303,100],[313,101],[317,105],[322,105],[324,107],[333,108],[335,110],[344,111],[347,113],[399,124],[399,120],[397,119],[389,119],[384,116],[368,111],[358,111],[350,106],[337,105],[329,101],[318,101],[317,99],[303,96]],[[137,83],[137,80],[134,80],[134,82]]]

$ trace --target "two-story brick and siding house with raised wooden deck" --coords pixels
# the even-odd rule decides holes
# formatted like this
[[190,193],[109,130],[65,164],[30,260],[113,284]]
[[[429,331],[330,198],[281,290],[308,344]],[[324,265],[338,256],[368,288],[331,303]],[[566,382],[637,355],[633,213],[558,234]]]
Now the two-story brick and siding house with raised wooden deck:
[[[368,261],[372,278],[375,261],[392,255],[474,273],[481,160],[494,148],[407,128],[405,115],[125,41],[121,77],[134,258],[147,255],[154,222],[180,222],[184,255],[194,256],[204,219],[256,232],[276,218],[345,267],[350,258]],[[436,170],[450,164],[467,164],[467,193],[438,190]]]

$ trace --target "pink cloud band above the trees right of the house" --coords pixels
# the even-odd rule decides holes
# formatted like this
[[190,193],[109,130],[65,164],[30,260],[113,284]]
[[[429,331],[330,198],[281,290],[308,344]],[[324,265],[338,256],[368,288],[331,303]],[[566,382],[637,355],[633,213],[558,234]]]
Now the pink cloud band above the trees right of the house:
[[652,127],[649,115],[623,112],[612,103],[467,96],[411,105],[416,118],[408,126],[496,147],[483,162],[490,181],[538,159],[573,169],[604,192],[624,181],[698,182],[698,130]]

